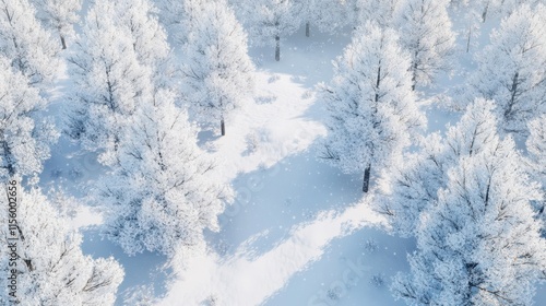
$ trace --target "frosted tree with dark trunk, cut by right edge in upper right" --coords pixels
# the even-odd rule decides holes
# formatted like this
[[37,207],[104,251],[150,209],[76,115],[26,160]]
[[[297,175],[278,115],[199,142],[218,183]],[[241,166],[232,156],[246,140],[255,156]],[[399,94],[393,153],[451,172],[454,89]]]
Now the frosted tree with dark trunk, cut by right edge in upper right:
[[495,99],[506,131],[526,133],[530,119],[546,114],[546,5],[521,5],[494,31],[468,80],[472,96]]

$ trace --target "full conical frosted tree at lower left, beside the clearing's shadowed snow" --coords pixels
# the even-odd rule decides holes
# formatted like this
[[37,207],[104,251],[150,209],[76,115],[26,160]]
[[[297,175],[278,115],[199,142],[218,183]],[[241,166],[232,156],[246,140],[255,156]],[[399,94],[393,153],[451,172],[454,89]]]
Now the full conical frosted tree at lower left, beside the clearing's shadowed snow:
[[197,145],[197,131],[174,94],[158,91],[139,107],[119,163],[98,188],[105,234],[126,252],[174,255],[199,245],[203,229],[218,229],[217,214],[232,189],[210,177],[212,163]]

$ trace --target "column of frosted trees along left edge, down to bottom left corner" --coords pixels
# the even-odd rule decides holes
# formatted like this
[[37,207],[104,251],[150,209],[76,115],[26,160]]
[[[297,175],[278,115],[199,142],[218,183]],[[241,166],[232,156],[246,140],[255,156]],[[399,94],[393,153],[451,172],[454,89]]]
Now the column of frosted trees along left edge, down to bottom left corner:
[[[0,2],[1,192],[17,202],[16,227],[7,213],[0,216],[5,224],[0,229],[5,246],[0,250],[0,270],[17,278],[14,295],[8,295],[12,283],[2,278],[2,305],[111,305],[123,278],[114,259],[82,254],[81,235],[67,225],[57,209],[60,203],[36,186],[60,134],[45,110],[79,5],[78,1]],[[20,185],[23,179],[28,181],[25,187]],[[8,248],[13,243],[9,237],[14,236],[16,249]]]

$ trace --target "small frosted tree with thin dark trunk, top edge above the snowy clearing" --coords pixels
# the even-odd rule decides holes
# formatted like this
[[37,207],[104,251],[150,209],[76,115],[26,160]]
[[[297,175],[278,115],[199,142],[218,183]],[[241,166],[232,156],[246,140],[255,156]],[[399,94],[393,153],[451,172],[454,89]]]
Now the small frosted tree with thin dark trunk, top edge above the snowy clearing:
[[245,0],[240,8],[250,42],[257,46],[275,46],[275,60],[281,60],[281,40],[294,34],[301,24],[300,3],[295,0]]

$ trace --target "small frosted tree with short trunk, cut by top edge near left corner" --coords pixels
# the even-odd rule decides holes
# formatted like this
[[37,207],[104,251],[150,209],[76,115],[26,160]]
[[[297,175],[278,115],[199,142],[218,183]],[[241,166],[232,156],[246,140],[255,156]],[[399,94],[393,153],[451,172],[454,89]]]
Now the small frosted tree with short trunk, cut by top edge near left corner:
[[59,35],[63,49],[67,38],[72,38],[74,24],[80,20],[82,0],[32,0],[36,5],[37,16],[50,30]]

